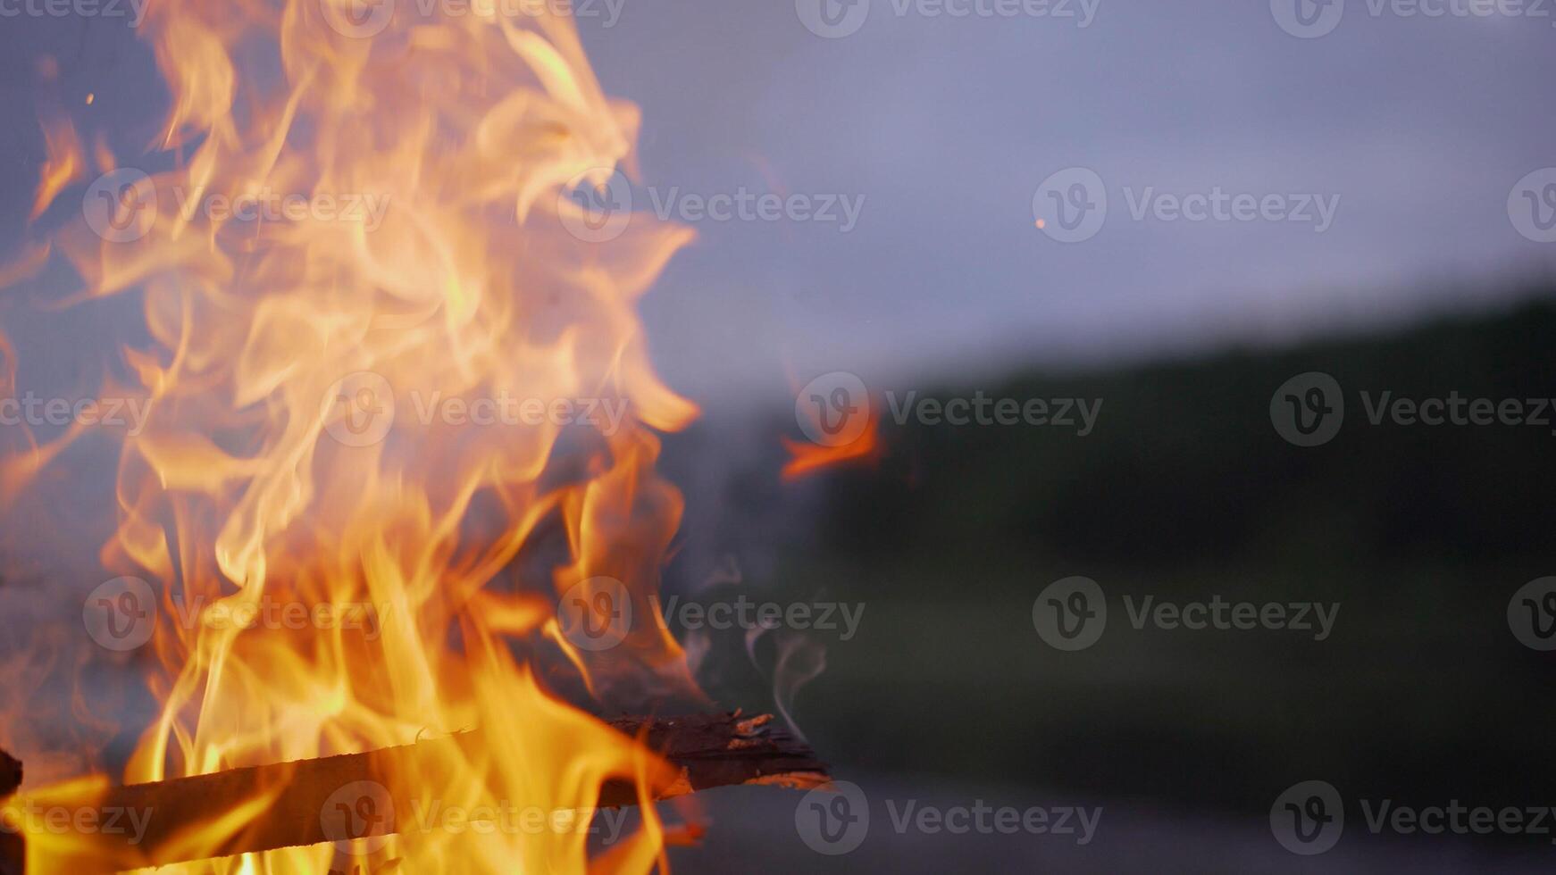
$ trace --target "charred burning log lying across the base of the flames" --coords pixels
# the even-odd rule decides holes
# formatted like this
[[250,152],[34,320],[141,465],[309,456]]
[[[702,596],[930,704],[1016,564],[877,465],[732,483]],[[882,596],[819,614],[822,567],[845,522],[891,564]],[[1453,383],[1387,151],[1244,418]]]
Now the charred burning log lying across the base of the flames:
[[[809,746],[775,729],[770,715],[742,718],[736,712],[664,720],[624,716],[612,720],[610,726],[643,738],[649,749],[666,760],[669,768],[649,774],[647,790],[654,799],[745,783],[803,790],[829,780],[826,766]],[[138,835],[101,830],[92,838],[104,845],[98,849],[103,858],[121,861],[126,869],[184,863],[190,859],[188,844],[180,836],[209,827],[254,799],[269,799],[265,816],[247,822],[215,856],[405,833],[417,828],[417,819],[411,813],[420,810],[419,802],[436,797],[437,791],[426,786],[414,793],[386,790],[406,785],[397,776],[425,776],[428,763],[439,762],[447,746],[473,751],[487,743],[484,732],[468,732],[367,754],[117,786],[93,804],[95,811],[138,813],[145,828]],[[22,763],[0,752],[0,797],[14,793],[20,779]],[[383,799],[369,794],[366,802],[381,807],[384,816],[370,830],[344,835],[330,827],[331,804],[342,788],[363,782],[383,790]],[[19,805],[28,802],[26,797],[12,800]],[[358,802],[361,800],[350,800]],[[636,804],[638,790],[630,783],[612,782],[601,790],[601,808]],[[0,833],[0,875],[25,872],[22,838]]]

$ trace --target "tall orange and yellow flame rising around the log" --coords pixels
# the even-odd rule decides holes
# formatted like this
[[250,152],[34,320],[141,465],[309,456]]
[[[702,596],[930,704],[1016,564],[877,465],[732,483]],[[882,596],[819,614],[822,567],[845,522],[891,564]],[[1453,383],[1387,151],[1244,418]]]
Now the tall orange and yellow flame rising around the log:
[[[573,22],[543,6],[423,16],[401,3],[369,36],[353,0],[148,3],[142,36],[171,92],[148,163],[174,166],[140,173],[100,148],[95,163],[115,174],[53,239],[82,281],[72,300],[143,294],[152,340],[126,348],[129,378],[104,387],[149,409],[121,435],[118,522],[101,550],[157,594],[160,713],[124,782],[482,727],[492,743],[450,748],[391,790],[590,810],[605,782],[646,788],[658,766],[569,704],[566,678],[601,704],[699,695],[657,623],[594,653],[557,615],[559,595],[601,578],[652,609],[682,514],[654,472],[655,431],[697,409],[655,378],[635,309],[691,233],[643,214],[605,242],[568,232],[590,218],[568,196],[577,180],[632,168],[638,112],[602,93]],[[50,127],[48,146],[34,214],[86,166],[72,127]],[[272,196],[282,208],[258,219],[216,208]],[[425,415],[506,395],[618,399],[627,413],[615,429]],[[25,480],[78,434],[0,472]],[[221,622],[296,605],[363,609],[377,631]],[[87,776],[42,793],[104,786]],[[212,855],[266,802],[213,811],[184,850]],[[585,838],[431,830],[387,836],[378,853],[417,873],[663,864],[647,808],[643,830],[596,859]],[[93,853],[40,838],[28,864],[124,866]],[[171,870],[325,872],[341,853]]]

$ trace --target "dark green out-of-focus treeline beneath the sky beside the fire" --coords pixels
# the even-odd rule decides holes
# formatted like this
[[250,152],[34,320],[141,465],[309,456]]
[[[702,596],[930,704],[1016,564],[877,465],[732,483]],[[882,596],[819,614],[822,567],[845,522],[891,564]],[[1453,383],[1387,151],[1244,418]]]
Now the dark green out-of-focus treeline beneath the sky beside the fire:
[[[1550,300],[1550,295],[1537,297]],[[1556,786],[1556,654],[1511,634],[1508,601],[1556,573],[1553,426],[1372,426],[1374,396],[1556,396],[1556,308],[1388,336],[923,396],[1102,398],[1099,426],[884,424],[874,466],[825,500],[773,580],[867,605],[828,643],[797,720],[848,769],[1033,783],[1085,799],[1267,814],[1285,786],[1349,797],[1536,805]],[[1333,375],[1346,424],[1284,441],[1270,399]],[[1556,418],[1556,413],[1547,410]],[[1067,575],[1109,595],[1081,653],[1035,634]],[[1136,631],[1122,595],[1340,601],[1296,631]]]

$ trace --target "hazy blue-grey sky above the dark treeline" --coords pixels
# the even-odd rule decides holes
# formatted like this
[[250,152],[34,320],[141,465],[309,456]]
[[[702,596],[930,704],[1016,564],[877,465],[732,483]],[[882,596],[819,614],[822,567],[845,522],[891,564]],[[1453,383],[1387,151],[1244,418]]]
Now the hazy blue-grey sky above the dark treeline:
[[[1547,5],[545,2],[576,3],[607,93],[643,107],[633,207],[699,230],[644,302],[657,365],[699,399],[836,370],[1281,342],[1495,303],[1498,280],[1556,253],[1540,230],[1556,176],[1536,174],[1556,166]],[[12,241],[40,109],[129,146],[166,101],[128,19],[16,9],[0,0]],[[62,68],[51,87],[44,53]],[[1519,199],[1526,177],[1534,200]],[[755,200],[772,193],[776,219]],[[720,196],[750,208],[703,214]],[[1085,239],[1061,239],[1081,205]],[[135,314],[14,305],[0,320],[34,373],[68,367],[62,336]]]

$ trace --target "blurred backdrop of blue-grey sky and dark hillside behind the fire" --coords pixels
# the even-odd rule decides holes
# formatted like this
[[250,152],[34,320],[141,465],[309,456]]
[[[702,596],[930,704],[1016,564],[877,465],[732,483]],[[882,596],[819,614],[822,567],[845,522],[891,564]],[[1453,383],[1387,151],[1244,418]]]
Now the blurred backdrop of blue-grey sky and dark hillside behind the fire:
[[[1383,393],[1556,396],[1556,12],[1424,6],[1449,11],[579,0],[605,92],[643,107],[635,207],[699,232],[643,305],[655,365],[705,410],[666,438],[688,497],[666,595],[860,611],[846,640],[678,631],[722,704],[783,709],[862,788],[868,836],[818,853],[798,797],[728,790],[674,864],[1550,869],[1548,835],[1372,835],[1360,807],[1556,804],[1551,653],[1509,628],[1514,594],[1556,573],[1556,412],[1368,415]],[[123,20],[8,17],[0,44],[0,235],[20,239],[39,115],[68,107],[129,154],[166,92]],[[836,208],[686,205],[741,193]],[[1260,210],[1184,218],[1217,193]],[[40,393],[101,373],[82,348],[112,367],[137,319],[134,300],[0,298],[19,382]],[[1298,446],[1271,406],[1312,371],[1344,421]],[[867,389],[876,446],[781,476],[783,438],[817,443],[801,387],[837,373]],[[898,421],[909,393],[1102,406],[1081,435]],[[70,465],[110,482],[112,448]],[[79,611],[30,581],[95,583],[68,507],[37,513],[70,538],[0,533],[11,623]],[[1075,575],[1109,615],[1064,651],[1033,612]],[[1125,598],[1145,597],[1340,608],[1315,640],[1136,629]],[[1305,780],[1346,805],[1340,844],[1312,858],[1271,835]],[[1086,844],[899,831],[904,800],[1103,814]]]

